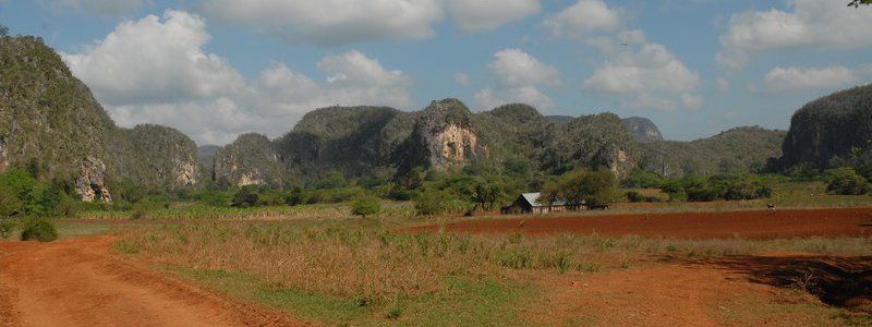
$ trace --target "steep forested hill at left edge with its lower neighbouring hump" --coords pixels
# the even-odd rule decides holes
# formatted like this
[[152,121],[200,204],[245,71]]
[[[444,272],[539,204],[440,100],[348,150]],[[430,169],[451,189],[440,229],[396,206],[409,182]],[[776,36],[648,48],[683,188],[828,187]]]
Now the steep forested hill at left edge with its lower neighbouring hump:
[[43,39],[0,37],[0,172],[26,168],[83,199],[114,186],[198,182],[196,145],[173,129],[120,129]]

